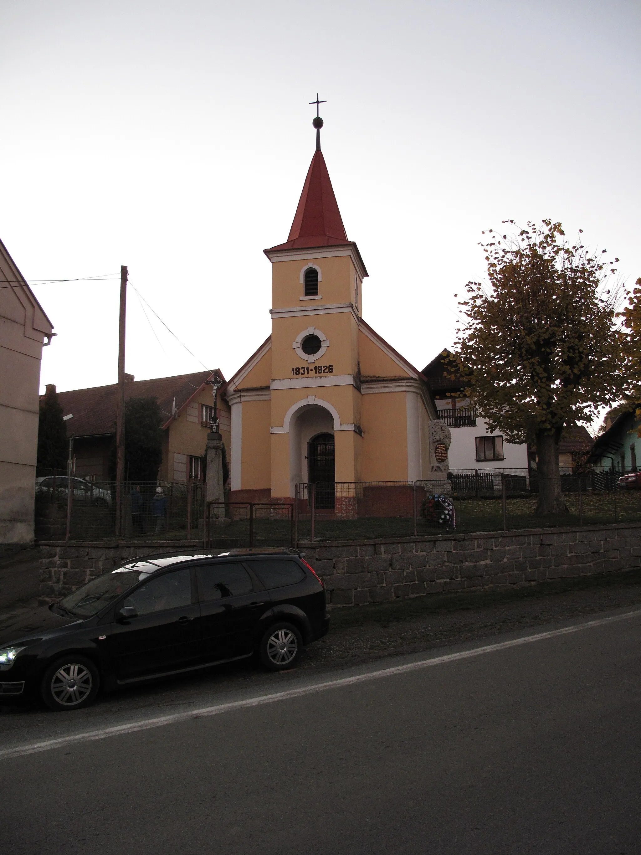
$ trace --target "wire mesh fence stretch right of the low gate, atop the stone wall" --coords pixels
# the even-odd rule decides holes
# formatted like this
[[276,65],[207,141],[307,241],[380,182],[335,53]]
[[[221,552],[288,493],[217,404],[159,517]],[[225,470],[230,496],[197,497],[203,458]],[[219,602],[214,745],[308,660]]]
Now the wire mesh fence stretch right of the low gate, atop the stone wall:
[[538,512],[538,475],[455,473],[438,481],[299,484],[295,541],[374,540],[515,528],[556,528],[641,521],[641,481],[620,475],[562,475],[562,510]]

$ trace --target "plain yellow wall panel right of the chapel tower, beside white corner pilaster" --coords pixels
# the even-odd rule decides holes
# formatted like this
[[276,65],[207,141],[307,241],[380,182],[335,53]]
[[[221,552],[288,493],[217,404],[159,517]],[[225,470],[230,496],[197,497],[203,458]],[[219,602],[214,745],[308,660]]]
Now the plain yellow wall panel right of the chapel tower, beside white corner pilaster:
[[362,480],[407,481],[405,392],[362,396]]

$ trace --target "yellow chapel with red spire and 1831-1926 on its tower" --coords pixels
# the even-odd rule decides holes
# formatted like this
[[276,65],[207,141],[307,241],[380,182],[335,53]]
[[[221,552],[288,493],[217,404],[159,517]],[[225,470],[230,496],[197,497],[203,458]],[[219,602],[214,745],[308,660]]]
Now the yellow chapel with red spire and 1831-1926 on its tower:
[[[264,251],[272,333],[223,392],[231,501],[286,501],[300,484],[420,481],[432,471],[432,392],[363,320],[368,271],[345,233],[322,124],[314,119],[316,150],[289,236]],[[400,310],[397,293],[390,311]]]

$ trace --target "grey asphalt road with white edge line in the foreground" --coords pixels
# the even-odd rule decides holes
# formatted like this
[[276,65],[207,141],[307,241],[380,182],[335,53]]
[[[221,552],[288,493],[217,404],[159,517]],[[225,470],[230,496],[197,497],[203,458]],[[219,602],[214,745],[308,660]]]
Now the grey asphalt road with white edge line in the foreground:
[[641,852],[641,610],[279,678],[3,717],[3,855]]

